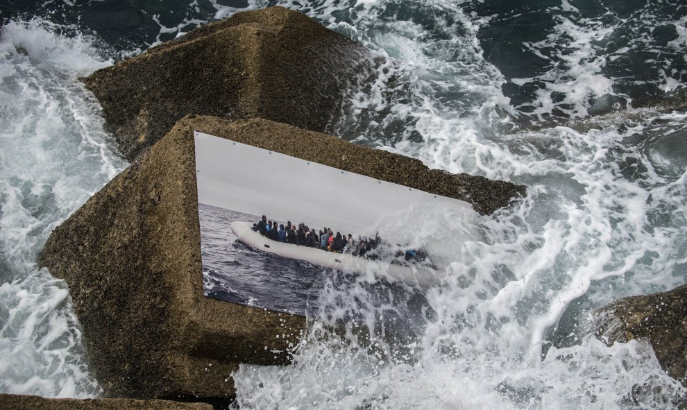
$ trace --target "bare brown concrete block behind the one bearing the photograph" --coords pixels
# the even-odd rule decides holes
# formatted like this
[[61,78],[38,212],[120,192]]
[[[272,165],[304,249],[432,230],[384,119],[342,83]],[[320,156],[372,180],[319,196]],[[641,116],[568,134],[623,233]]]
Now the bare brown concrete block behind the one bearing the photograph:
[[83,79],[132,161],[187,114],[324,131],[371,64],[361,44],[286,8],[239,12]]

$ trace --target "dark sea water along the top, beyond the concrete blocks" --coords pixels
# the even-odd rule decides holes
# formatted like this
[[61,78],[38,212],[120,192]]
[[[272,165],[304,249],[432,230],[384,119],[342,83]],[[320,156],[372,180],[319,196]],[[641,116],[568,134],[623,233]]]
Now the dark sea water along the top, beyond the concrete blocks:
[[[369,8],[359,3],[366,2],[6,0],[0,11],[3,22],[40,17],[67,35],[92,34],[103,54],[115,60],[233,12],[275,5],[303,11],[368,45],[398,21],[414,24],[422,29],[423,52],[445,62],[475,58],[466,55],[466,44],[456,44],[457,38],[474,34],[475,53],[498,69],[503,95],[517,108],[509,114],[527,125],[684,98],[663,81],[684,83],[687,75],[684,50],[674,44],[685,35],[684,1],[384,1],[373,15],[365,15]],[[461,21],[457,10],[470,21]],[[470,61],[458,66],[452,68],[473,68]],[[611,82],[597,95],[574,95],[581,94],[577,87],[595,87],[585,83],[595,79],[586,76],[592,69]],[[441,71],[436,74],[455,74]],[[391,94],[387,98],[407,97],[407,91]],[[436,97],[438,103],[459,106],[467,99],[468,107],[459,110],[469,110],[470,94],[453,86]]]

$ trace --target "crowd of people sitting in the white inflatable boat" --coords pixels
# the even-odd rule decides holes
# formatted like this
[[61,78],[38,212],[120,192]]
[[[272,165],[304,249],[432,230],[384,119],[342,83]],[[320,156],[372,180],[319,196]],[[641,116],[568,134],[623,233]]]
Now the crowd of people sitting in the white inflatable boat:
[[[286,225],[284,225],[276,221],[269,221],[264,215],[260,221],[253,223],[252,229],[273,241],[307,246],[308,248],[319,248],[327,252],[350,253],[353,256],[367,257],[369,259],[376,259],[378,257],[375,253],[371,253],[371,250],[375,250],[375,248],[382,244],[382,239],[379,236],[376,236],[374,239],[358,238],[355,241],[350,233],[348,235],[343,235],[341,232],[334,234],[331,228],[326,227],[322,230],[310,229],[303,222],[299,223],[298,227],[292,224],[291,221],[287,221]],[[403,256],[406,260],[415,260],[417,262],[425,260],[425,253],[422,250],[405,250],[405,252],[396,256]]]

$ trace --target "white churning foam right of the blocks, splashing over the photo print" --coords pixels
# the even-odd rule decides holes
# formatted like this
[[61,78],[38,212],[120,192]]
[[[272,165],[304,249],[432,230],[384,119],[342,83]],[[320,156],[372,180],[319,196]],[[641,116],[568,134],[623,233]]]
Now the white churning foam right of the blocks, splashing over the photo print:
[[[423,291],[421,313],[398,325],[395,318],[412,311],[407,300],[380,304],[364,278],[332,282],[321,296],[327,308],[310,318],[312,330],[293,366],[241,366],[235,374],[239,406],[675,407],[687,392],[663,373],[650,345],[608,347],[588,334],[588,321],[593,309],[615,298],[687,282],[687,172],[683,157],[661,148],[666,136],[679,138],[685,114],[627,110],[597,119],[591,130],[557,126],[504,134],[509,118],[523,113],[509,107],[502,76],[482,58],[472,26],[479,23],[432,2],[423,9],[434,12],[432,22],[441,26],[440,16],[450,12],[459,23],[448,32],[461,33],[436,42],[425,26],[385,14],[396,4],[351,3],[345,21],[337,17],[339,3],[307,9],[389,58],[382,80],[352,98],[351,117],[366,124],[347,128],[343,121],[341,134],[355,129],[357,142],[434,168],[522,183],[527,196],[478,218],[474,231],[481,235],[473,237],[463,235],[464,221],[450,210],[390,215],[382,223],[387,229],[406,226],[418,243],[438,239],[453,250],[443,285]],[[537,78],[547,81],[532,103],[535,117],[555,110],[581,117],[601,110],[606,96],[625,99],[613,89],[617,79],[603,74],[611,56],[597,46],[614,28],[583,19],[563,3],[558,35],[529,44],[535,52],[552,47],[561,59]],[[632,45],[638,44],[649,42]],[[389,86],[398,83],[389,78],[409,87],[393,94]],[[453,101],[442,98],[447,89]],[[468,104],[455,103],[461,93]],[[403,126],[391,135],[395,122]],[[330,332],[329,325],[339,329]],[[398,336],[395,325],[411,327],[416,337]]]

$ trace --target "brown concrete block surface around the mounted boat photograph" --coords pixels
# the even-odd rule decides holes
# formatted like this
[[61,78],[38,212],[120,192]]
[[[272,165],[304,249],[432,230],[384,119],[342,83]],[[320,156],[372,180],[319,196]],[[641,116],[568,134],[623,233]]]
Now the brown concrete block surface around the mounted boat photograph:
[[91,369],[110,397],[230,400],[238,364],[286,363],[305,329],[301,316],[203,297],[194,130],[482,210],[506,205],[520,189],[282,123],[182,119],[56,228],[40,255],[69,285]]

